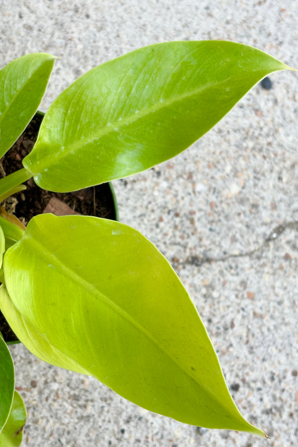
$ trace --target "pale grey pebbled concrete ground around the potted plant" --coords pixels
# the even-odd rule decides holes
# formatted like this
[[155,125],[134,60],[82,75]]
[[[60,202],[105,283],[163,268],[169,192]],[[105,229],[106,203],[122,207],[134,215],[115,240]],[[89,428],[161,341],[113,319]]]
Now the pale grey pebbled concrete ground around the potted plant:
[[[88,69],[162,41],[234,40],[298,68],[297,12],[293,0],[2,0],[0,65],[37,51],[61,57],[42,110]],[[271,439],[151,414],[18,345],[24,445],[297,446],[298,75],[271,80],[271,90],[257,85],[186,152],[114,182],[122,222],[173,264],[237,405]]]

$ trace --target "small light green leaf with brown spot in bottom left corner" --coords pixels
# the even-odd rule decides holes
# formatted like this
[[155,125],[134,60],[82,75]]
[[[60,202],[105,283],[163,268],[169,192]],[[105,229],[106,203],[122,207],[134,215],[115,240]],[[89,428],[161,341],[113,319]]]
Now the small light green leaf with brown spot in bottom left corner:
[[23,440],[23,428],[27,419],[25,404],[17,391],[8,420],[0,434],[0,447],[19,447]]

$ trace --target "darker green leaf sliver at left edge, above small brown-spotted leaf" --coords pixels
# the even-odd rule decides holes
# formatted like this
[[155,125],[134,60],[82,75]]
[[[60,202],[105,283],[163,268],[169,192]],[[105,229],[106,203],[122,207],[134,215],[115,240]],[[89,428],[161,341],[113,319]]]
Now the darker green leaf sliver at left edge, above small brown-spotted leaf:
[[6,343],[0,333],[0,433],[8,418],[14,391],[14,367]]

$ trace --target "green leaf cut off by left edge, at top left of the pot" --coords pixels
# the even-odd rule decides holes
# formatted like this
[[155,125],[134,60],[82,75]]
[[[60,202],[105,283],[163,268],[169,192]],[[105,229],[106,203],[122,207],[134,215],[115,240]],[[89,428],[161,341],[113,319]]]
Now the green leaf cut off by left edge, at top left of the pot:
[[55,57],[22,56],[0,71],[0,157],[23,132],[41,102]]

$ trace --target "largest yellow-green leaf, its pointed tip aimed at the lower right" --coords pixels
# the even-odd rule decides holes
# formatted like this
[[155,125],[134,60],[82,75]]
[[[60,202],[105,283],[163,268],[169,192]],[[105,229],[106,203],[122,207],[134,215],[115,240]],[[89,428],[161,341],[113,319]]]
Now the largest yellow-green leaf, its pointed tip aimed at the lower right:
[[25,345],[34,331],[37,345],[49,343],[45,360],[54,347],[54,364],[60,351],[70,368],[80,365],[151,411],[265,436],[240,415],[195,306],[138,231],[93,217],[36,216],[7,250],[4,276],[5,318]]

